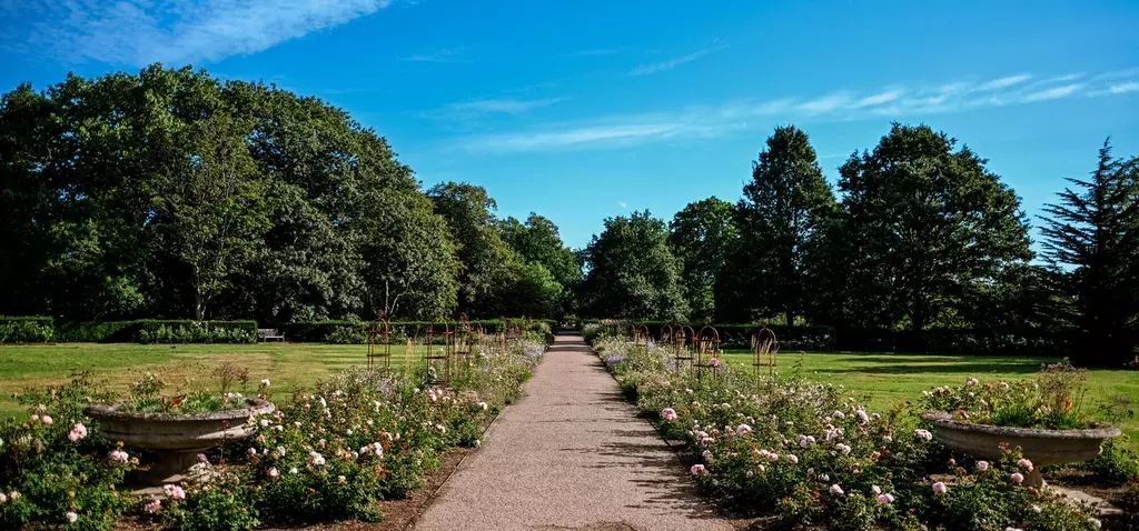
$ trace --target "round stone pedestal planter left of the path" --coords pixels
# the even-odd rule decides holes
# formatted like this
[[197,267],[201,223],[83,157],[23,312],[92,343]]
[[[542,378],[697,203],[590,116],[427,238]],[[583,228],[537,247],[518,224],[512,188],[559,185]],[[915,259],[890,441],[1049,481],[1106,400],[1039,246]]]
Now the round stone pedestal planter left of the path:
[[256,433],[251,416],[272,413],[272,403],[246,399],[246,407],[210,413],[132,413],[118,404],[97,404],[87,415],[99,422],[99,431],[110,441],[156,450],[157,456],[138,481],[149,486],[178,483],[186,479],[197,455],[224,441]]

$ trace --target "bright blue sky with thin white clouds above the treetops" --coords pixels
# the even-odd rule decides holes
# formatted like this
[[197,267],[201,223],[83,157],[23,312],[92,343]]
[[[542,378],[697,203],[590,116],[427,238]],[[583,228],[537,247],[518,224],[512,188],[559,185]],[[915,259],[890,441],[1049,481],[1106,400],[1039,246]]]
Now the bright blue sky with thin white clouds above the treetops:
[[0,86],[153,61],[277,83],[576,247],[606,216],[736,200],[788,123],[831,182],[927,123],[1034,215],[1106,135],[1139,155],[1137,27],[1133,0],[0,0]]

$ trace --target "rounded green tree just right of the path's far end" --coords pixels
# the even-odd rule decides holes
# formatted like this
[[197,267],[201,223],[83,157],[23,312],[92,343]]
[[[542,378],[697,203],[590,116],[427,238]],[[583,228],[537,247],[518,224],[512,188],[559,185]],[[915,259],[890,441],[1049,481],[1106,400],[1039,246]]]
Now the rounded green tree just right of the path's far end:
[[585,249],[582,284],[591,315],[633,320],[683,320],[680,264],[669,250],[664,221],[648,210],[605,219],[605,231]]

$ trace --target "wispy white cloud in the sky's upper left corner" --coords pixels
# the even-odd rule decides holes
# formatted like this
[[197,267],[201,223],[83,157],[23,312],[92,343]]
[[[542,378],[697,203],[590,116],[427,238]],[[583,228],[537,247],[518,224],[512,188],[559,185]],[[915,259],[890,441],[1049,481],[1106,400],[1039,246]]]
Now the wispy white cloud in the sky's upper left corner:
[[[181,65],[255,53],[371,15],[392,0],[48,0],[6,2],[9,48],[65,63]],[[18,17],[18,18],[17,18]]]

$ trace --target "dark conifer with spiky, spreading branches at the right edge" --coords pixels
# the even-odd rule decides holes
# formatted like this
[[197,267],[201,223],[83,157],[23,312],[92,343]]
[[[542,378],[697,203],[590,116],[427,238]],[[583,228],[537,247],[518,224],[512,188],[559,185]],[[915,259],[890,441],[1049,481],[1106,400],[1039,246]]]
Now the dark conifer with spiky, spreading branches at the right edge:
[[1136,347],[1139,318],[1139,157],[1113,158],[1105,140],[1091,177],[1068,182],[1076,190],[1044,208],[1044,252],[1087,334],[1079,362],[1116,365]]

